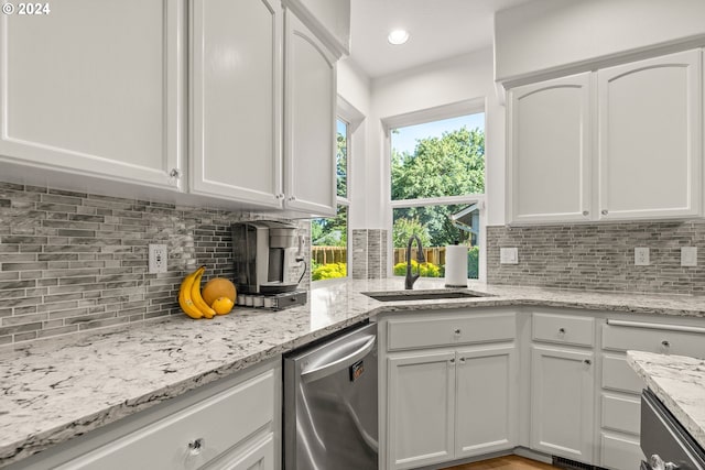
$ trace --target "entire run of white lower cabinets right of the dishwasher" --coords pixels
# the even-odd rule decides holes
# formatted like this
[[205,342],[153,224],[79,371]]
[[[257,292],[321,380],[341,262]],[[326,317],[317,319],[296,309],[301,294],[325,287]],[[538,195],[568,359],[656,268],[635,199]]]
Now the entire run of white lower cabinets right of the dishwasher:
[[626,351],[705,358],[705,319],[550,307],[422,310],[381,317],[379,341],[381,469],[523,447],[633,470],[644,459],[646,385]]

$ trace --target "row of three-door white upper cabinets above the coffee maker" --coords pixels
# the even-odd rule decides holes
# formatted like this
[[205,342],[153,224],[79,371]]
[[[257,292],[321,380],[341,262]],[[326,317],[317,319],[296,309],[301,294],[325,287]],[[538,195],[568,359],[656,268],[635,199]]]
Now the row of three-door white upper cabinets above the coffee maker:
[[[349,34],[349,0],[304,3]],[[50,7],[0,15],[2,176],[335,215],[339,55],[279,0]]]

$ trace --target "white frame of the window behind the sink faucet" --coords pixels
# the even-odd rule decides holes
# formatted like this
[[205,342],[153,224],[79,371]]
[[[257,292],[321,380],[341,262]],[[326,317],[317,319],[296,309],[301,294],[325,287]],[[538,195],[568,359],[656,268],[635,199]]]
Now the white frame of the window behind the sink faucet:
[[[392,155],[392,130],[398,128],[404,128],[409,125],[424,124],[434,121],[441,121],[444,119],[458,118],[460,116],[485,114],[485,193],[484,194],[468,194],[464,196],[441,196],[432,198],[416,198],[416,199],[400,199],[392,200],[391,198],[391,155]],[[383,128],[384,140],[384,173],[387,177],[387,276],[397,277],[393,273],[392,261],[394,258],[394,247],[392,243],[392,228],[393,228],[393,212],[394,209],[408,208],[408,207],[429,207],[429,206],[447,206],[447,205],[460,205],[460,204],[477,204],[480,209],[479,219],[480,228],[477,237],[477,243],[479,244],[479,282],[485,282],[487,278],[487,247],[486,247],[486,230],[487,230],[487,100],[486,98],[474,98],[463,101],[457,101],[449,105],[442,105],[434,108],[422,109],[417,111],[406,112],[403,114],[392,116],[381,119]]]

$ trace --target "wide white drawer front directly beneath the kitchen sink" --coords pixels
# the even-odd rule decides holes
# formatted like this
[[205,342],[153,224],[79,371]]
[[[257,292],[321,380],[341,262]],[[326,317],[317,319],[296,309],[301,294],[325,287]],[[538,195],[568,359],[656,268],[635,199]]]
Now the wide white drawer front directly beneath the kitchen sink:
[[387,324],[387,349],[511,341],[516,337],[516,325],[514,313],[390,319]]

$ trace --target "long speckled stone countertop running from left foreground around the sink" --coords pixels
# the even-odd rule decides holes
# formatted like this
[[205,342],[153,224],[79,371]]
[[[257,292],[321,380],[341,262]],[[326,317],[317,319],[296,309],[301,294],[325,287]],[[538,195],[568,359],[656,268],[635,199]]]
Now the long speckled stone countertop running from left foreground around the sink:
[[[382,313],[491,306],[570,307],[705,316],[703,297],[535,287],[471,289],[494,296],[381,303],[362,292],[401,291],[403,278],[315,287],[306,306],[237,309],[213,320],[169,317],[132,328],[0,348],[0,467]],[[443,287],[419,280],[414,289]]]

